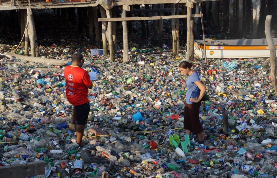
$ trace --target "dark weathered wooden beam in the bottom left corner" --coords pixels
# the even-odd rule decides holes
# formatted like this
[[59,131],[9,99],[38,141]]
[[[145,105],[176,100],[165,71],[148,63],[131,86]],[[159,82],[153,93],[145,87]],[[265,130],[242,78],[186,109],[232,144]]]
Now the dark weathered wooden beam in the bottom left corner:
[[34,161],[25,164],[0,167],[0,178],[31,177],[36,175],[44,175],[44,161]]

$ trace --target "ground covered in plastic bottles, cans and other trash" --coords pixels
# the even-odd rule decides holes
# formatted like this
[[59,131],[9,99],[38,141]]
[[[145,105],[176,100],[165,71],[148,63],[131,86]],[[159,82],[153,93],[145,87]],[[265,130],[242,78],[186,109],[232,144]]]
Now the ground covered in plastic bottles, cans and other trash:
[[[122,63],[121,51],[109,63],[108,57],[90,56],[93,47],[85,38],[62,35],[57,42],[45,38],[40,56],[70,59],[82,51],[84,69],[98,74],[89,90],[86,146],[71,142],[76,136],[68,130],[72,105],[65,97],[64,66],[0,54],[1,166],[42,160],[45,175],[37,177],[277,176],[277,103],[269,69],[263,67],[268,59],[232,59],[237,67],[229,71],[223,67],[228,59],[205,63],[196,58],[193,68],[210,98],[200,112],[205,143],[199,144],[196,135],[188,140],[182,123],[186,76],[180,76],[177,64],[185,51],[173,56],[166,45],[135,44],[134,35],[130,63]],[[165,35],[167,42],[170,36]],[[0,48],[12,51],[15,46]],[[15,53],[21,51],[23,47]],[[222,128],[225,112],[227,133]],[[93,136],[91,127],[111,135]]]

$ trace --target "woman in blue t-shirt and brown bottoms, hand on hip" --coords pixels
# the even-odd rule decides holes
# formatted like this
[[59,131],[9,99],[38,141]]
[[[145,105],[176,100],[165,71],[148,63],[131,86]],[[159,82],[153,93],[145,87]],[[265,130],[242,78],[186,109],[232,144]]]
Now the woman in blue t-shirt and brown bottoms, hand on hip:
[[187,94],[186,94],[186,104],[184,109],[184,127],[186,129],[186,134],[198,135],[198,142],[204,142],[203,127],[199,120],[199,108],[201,106],[201,99],[205,94],[206,88],[200,82],[198,73],[191,69],[192,64],[188,61],[182,61],[178,68],[181,74],[188,75],[186,81],[187,84]]

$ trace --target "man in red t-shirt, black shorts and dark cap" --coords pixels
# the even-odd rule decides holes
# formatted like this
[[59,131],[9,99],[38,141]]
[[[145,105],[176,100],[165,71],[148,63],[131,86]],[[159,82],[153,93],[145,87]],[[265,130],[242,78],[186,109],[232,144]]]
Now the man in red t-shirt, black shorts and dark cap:
[[89,116],[89,100],[87,98],[88,88],[92,88],[92,82],[89,79],[87,71],[82,69],[84,57],[77,52],[72,55],[72,64],[64,68],[64,77],[66,82],[65,94],[68,101],[74,106],[71,124],[76,125],[76,143],[82,144],[85,124]]

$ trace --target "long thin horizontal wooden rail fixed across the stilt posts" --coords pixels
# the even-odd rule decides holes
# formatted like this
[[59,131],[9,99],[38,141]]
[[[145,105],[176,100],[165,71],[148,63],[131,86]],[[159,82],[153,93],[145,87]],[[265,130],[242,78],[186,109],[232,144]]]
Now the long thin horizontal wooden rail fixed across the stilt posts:
[[[192,14],[191,17],[201,17],[201,14]],[[161,20],[187,18],[187,14],[179,16],[153,16],[153,17],[126,17],[126,18],[98,18],[99,22],[130,21],[130,20]]]

